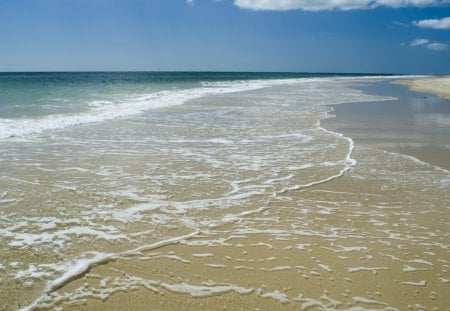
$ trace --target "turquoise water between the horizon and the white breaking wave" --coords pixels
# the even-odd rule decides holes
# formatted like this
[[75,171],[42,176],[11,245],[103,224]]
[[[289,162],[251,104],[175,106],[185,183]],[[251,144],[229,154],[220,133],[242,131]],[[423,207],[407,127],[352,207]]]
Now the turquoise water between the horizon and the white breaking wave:
[[0,117],[34,118],[89,111],[126,96],[208,86],[208,82],[331,74],[215,72],[0,73]]

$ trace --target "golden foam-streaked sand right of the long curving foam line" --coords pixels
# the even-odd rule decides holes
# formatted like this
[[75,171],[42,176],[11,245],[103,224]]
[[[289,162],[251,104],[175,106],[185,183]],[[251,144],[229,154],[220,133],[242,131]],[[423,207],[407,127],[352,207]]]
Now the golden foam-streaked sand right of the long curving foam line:
[[[351,128],[335,108],[323,124]],[[379,148],[371,132],[353,128],[358,165],[341,178],[92,267],[54,301],[64,310],[449,310],[448,171]]]

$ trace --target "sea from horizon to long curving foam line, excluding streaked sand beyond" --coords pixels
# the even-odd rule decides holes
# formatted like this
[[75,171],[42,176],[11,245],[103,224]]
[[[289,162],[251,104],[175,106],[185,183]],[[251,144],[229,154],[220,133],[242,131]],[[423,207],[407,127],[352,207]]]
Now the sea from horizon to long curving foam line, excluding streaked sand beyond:
[[[3,308],[55,307],[61,300],[56,292],[93,266],[260,215],[274,198],[344,176],[357,164],[353,140],[321,120],[330,117],[331,104],[392,100],[351,87],[380,79],[1,74]],[[130,282],[121,289],[130,289]],[[180,293],[199,290],[159,284]],[[102,297],[108,292],[113,289]],[[277,293],[267,294],[284,297]],[[64,299],[86,298],[71,295]]]

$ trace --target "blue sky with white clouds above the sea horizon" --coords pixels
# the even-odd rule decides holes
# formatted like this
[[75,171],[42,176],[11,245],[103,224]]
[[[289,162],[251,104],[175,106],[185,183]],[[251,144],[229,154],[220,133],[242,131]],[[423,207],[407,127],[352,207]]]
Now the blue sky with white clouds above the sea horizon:
[[0,71],[450,74],[450,0],[0,0]]

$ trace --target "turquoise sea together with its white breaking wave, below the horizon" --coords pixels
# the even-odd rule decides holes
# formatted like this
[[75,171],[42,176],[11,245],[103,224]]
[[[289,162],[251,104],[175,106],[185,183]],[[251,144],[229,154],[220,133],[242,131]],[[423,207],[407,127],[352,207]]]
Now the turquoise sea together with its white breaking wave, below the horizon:
[[177,105],[207,93],[334,74],[221,72],[0,73],[0,138],[25,137]]

